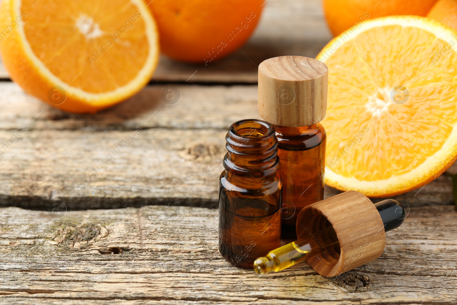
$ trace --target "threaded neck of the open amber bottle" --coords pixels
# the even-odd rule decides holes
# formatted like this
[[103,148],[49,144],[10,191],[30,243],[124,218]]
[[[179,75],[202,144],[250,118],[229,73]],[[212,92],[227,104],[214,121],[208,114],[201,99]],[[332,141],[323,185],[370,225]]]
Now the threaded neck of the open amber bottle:
[[225,137],[227,176],[268,177],[279,168],[275,128],[266,122],[246,119],[233,123]]

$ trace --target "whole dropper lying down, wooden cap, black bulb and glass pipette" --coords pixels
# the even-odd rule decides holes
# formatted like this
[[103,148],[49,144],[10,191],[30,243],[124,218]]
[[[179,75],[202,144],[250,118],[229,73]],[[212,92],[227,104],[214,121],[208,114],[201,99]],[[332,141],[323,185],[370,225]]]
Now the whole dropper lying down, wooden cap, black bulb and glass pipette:
[[302,209],[298,241],[256,259],[254,270],[277,272],[306,260],[320,275],[337,276],[381,256],[385,232],[398,228],[404,217],[395,200],[373,204],[359,192],[341,193]]

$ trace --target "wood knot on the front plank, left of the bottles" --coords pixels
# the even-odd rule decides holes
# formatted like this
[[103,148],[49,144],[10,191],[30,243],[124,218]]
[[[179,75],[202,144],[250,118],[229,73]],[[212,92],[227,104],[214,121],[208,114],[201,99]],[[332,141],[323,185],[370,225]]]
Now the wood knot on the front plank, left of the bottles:
[[108,230],[100,224],[67,225],[58,229],[51,243],[69,248],[85,249],[106,236],[108,236]]

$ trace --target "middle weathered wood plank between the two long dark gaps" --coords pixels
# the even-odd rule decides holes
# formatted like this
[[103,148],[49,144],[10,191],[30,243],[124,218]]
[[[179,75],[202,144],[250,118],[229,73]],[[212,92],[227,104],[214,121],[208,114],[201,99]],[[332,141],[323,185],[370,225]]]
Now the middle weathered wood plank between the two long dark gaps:
[[[162,98],[170,88],[181,94],[175,105]],[[7,145],[0,150],[0,206],[100,209],[178,202],[217,207],[227,129],[239,119],[259,118],[254,85],[148,86],[95,115],[62,112],[11,82],[0,82],[0,91],[0,148]],[[133,142],[115,155],[128,136]],[[103,166],[107,155],[113,160]],[[101,171],[94,177],[93,166]],[[326,196],[336,193],[327,188]],[[452,204],[451,177],[397,199],[411,206]]]

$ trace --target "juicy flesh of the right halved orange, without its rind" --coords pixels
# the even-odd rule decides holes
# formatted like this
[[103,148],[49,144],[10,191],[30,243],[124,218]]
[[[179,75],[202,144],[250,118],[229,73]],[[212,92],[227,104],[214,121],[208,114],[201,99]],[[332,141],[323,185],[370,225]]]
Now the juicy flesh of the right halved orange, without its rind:
[[[329,55],[326,161],[341,159],[332,171],[360,181],[388,179],[440,150],[457,120],[457,54],[447,44],[420,28],[388,25],[361,32]],[[444,55],[437,60],[435,52]],[[395,86],[408,89],[404,104],[390,100]]]

